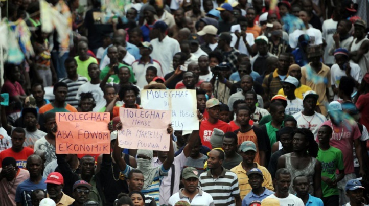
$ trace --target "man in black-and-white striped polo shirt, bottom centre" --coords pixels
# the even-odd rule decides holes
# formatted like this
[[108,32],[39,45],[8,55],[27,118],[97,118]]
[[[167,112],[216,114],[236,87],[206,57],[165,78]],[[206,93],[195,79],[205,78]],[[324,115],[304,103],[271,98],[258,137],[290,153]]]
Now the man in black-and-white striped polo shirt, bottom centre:
[[222,167],[224,156],[220,149],[209,152],[209,171],[200,175],[200,186],[213,197],[216,206],[241,206],[237,175]]

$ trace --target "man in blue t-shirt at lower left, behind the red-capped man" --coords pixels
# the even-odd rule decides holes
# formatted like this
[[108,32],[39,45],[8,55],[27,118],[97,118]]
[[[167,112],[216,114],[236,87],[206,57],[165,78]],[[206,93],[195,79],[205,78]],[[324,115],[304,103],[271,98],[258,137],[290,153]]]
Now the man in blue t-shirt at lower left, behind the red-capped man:
[[30,178],[18,185],[15,193],[15,202],[18,206],[32,205],[31,193],[33,190],[46,190],[46,178],[42,177],[42,159],[38,155],[31,155],[27,158],[27,170]]

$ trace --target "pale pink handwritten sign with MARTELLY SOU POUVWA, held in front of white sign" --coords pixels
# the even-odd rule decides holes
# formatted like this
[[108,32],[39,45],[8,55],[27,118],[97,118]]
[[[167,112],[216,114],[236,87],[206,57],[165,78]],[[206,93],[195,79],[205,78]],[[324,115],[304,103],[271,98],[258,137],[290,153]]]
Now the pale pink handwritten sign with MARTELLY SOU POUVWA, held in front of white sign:
[[169,151],[170,111],[119,108],[123,129],[118,131],[118,145],[127,149]]

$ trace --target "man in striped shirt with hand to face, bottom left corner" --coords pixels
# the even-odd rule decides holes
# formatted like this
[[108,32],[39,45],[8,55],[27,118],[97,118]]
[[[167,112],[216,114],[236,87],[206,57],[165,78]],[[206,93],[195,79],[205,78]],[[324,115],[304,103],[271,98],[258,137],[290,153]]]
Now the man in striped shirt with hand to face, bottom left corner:
[[0,168],[0,204],[16,205],[15,191],[18,185],[29,177],[30,173],[19,169],[13,157],[5,157]]

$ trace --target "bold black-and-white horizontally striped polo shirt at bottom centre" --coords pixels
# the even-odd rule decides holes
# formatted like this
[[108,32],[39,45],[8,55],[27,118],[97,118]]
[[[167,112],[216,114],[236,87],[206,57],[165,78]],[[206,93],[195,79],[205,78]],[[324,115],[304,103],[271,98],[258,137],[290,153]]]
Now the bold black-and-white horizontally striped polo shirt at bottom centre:
[[200,175],[202,190],[209,193],[217,206],[234,206],[235,197],[240,196],[237,175],[224,167],[223,172],[214,179],[211,170]]

